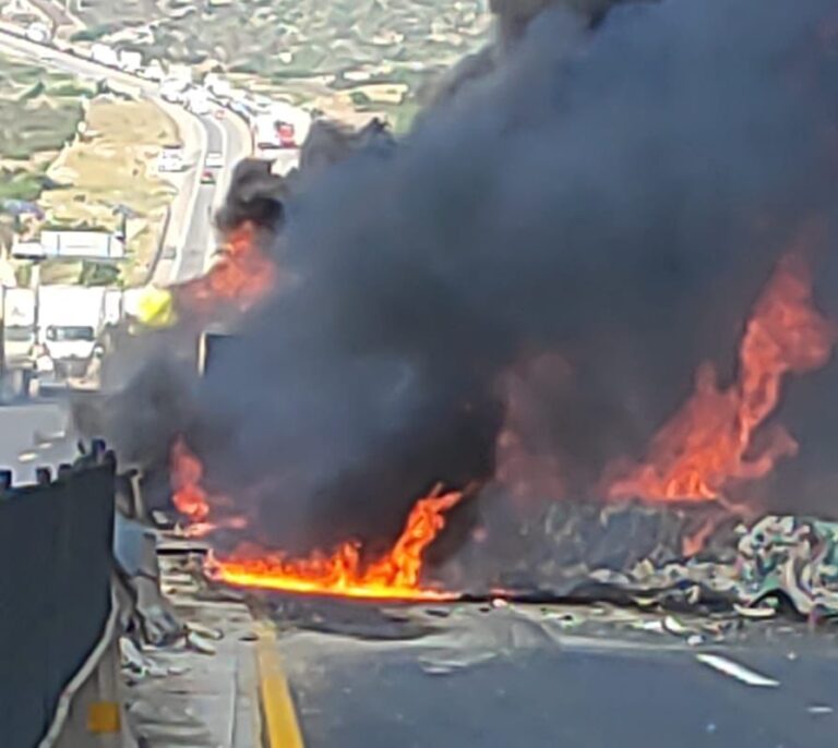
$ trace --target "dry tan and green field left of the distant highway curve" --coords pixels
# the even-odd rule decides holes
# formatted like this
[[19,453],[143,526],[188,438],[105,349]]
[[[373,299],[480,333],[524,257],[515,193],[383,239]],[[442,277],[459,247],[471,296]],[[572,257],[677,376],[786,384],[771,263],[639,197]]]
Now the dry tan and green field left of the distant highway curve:
[[142,282],[175,192],[157,176],[156,157],[178,140],[149,101],[0,57],[0,244],[9,249],[15,233],[25,240],[43,228],[119,231],[127,215],[124,264],[48,261],[43,280]]

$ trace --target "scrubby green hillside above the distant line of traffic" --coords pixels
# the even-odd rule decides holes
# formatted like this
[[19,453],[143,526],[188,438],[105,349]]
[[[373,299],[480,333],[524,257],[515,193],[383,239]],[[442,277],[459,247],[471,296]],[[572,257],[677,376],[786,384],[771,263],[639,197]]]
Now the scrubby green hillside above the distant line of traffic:
[[[71,0],[76,38],[232,74],[332,116],[409,124],[416,97],[489,34],[488,0]],[[366,117],[359,119],[367,119]]]

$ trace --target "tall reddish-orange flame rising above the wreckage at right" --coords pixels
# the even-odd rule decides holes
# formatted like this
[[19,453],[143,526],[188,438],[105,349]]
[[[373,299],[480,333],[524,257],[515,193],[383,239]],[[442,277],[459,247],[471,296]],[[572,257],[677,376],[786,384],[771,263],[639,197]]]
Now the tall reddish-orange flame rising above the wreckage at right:
[[824,366],[835,330],[815,309],[812,273],[799,254],[777,266],[756,301],[739,350],[739,374],[720,389],[713,364],[696,373],[695,391],[651,442],[647,459],[625,468],[607,487],[610,498],[713,500],[731,481],[766,475],[778,459],[797,454],[782,427],[764,432],[757,454],[753,437],[776,409],[783,377]]

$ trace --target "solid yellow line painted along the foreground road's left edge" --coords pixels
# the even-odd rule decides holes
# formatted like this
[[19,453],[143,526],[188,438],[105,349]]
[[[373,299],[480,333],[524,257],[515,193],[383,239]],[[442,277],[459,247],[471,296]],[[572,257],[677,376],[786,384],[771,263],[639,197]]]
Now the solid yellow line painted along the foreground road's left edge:
[[273,626],[258,629],[256,664],[268,748],[304,748]]

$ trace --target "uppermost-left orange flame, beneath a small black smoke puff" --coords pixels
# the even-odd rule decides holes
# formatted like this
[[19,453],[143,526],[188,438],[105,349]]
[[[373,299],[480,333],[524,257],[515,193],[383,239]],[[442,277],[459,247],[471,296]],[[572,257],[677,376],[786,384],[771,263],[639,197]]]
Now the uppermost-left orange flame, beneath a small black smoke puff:
[[218,301],[228,301],[244,311],[274,288],[276,265],[260,248],[253,224],[232,229],[222,251],[205,275],[176,287],[178,300],[190,309],[212,309]]

